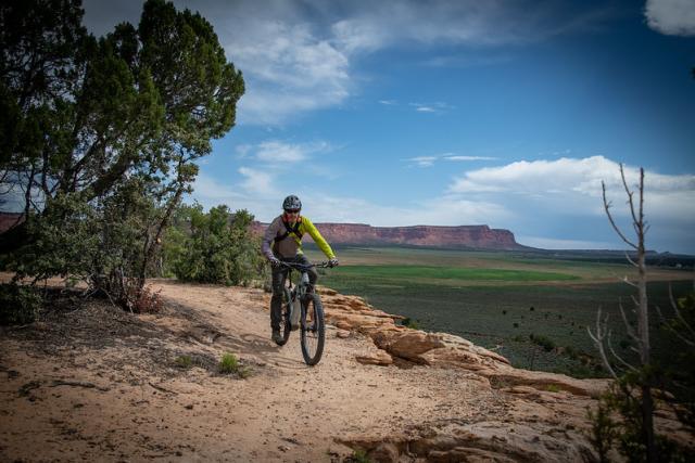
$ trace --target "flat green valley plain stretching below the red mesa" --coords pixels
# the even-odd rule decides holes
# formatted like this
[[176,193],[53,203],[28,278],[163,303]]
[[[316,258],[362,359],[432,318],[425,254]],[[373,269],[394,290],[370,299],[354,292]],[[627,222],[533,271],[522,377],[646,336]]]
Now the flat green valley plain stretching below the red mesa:
[[[529,253],[481,253],[413,248],[338,249],[341,267],[319,284],[365,297],[428,331],[448,332],[507,357],[514,365],[574,376],[603,374],[586,333],[601,307],[615,323],[616,349],[630,357],[619,301],[630,308],[630,265],[564,260]],[[321,256],[307,250],[311,259]],[[653,269],[649,303],[668,309],[668,287],[684,294],[693,272]],[[673,281],[672,283],[669,283]],[[653,320],[657,356],[674,346]],[[531,336],[555,346],[546,351]]]

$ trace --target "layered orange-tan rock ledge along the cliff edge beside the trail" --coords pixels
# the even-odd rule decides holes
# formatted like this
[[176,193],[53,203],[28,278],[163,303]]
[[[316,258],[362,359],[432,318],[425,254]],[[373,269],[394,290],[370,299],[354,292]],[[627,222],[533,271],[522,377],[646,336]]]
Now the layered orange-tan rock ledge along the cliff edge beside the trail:
[[[451,416],[404,426],[388,435],[342,436],[339,442],[366,452],[375,462],[594,462],[586,410],[606,390],[607,380],[577,380],[563,374],[520,370],[503,356],[445,333],[426,333],[395,323],[356,296],[321,290],[326,319],[342,332],[367,336],[371,353],[363,364],[457,369],[485,397],[497,396],[500,409],[485,416]],[[426,374],[426,373],[424,373]],[[493,404],[494,407],[494,404]],[[670,410],[657,413],[662,433],[683,442],[690,435]],[[620,455],[610,454],[612,460]]]

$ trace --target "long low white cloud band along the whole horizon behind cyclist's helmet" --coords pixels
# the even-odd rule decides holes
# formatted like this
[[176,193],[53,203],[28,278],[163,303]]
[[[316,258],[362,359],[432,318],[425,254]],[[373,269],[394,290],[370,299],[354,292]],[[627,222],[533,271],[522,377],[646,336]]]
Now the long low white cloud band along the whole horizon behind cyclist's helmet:
[[[427,163],[429,157],[441,159],[448,155],[408,160]],[[236,187],[220,185],[201,176],[195,195],[204,195],[199,201],[206,206],[225,203],[233,208],[243,207],[264,221],[277,216],[282,197],[298,194],[305,214],[315,221],[381,227],[488,224],[510,230],[519,243],[529,246],[624,248],[605,216],[601,198],[601,180],[605,180],[618,223],[626,232],[632,231],[618,164],[602,156],[519,162],[469,170],[443,194],[396,205],[336,195],[330,187],[315,190],[280,172],[244,167],[239,170],[242,180]],[[636,168],[627,166],[626,173],[630,185],[636,183]],[[647,246],[692,253],[695,176],[646,171],[645,181],[645,214],[652,226]]]

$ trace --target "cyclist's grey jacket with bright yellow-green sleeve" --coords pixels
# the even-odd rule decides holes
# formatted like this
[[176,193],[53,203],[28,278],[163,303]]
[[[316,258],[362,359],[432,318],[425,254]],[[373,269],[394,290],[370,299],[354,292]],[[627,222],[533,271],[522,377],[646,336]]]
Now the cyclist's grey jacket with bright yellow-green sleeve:
[[283,215],[276,217],[263,235],[261,250],[268,259],[274,255],[285,258],[294,257],[302,254],[302,237],[307,233],[328,259],[336,258],[333,249],[330,248],[314,223],[303,216],[300,216],[294,223],[286,222]]

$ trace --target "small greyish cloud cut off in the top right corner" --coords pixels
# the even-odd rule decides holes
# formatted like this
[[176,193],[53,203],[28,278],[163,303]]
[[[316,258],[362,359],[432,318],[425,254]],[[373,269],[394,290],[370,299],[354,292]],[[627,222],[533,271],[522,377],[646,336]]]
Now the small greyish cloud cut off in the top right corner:
[[647,24],[669,36],[695,36],[695,0],[647,0]]

